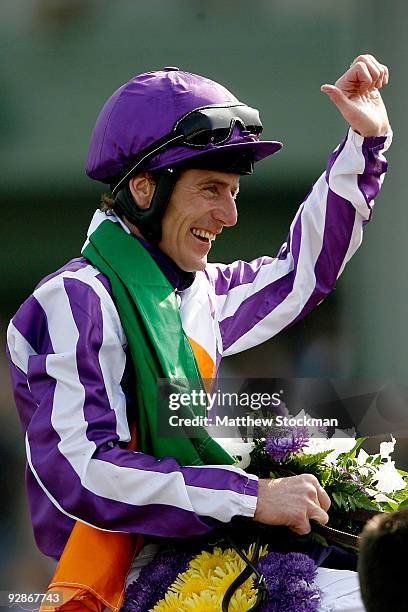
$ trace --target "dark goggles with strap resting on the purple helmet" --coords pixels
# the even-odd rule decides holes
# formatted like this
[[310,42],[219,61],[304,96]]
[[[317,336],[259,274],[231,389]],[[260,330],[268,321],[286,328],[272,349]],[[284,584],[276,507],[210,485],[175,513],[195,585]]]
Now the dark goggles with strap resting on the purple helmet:
[[247,135],[259,137],[262,132],[259,112],[245,104],[213,104],[186,113],[177,120],[169,134],[141,151],[132,167],[112,188],[112,194],[115,195],[127,179],[158,153],[177,145],[204,149],[210,144],[224,144],[231,137],[237,123]]

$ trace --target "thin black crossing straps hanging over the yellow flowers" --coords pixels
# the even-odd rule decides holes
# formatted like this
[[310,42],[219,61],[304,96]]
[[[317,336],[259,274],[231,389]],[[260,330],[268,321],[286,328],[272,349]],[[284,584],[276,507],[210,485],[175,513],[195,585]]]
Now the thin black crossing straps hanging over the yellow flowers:
[[221,603],[222,612],[228,612],[228,606],[229,606],[229,603],[235,591],[241,586],[241,584],[244,584],[244,582],[248,580],[248,578],[252,574],[255,574],[256,576],[254,587],[258,589],[258,593],[257,593],[255,604],[252,606],[252,608],[249,608],[249,610],[250,611],[259,610],[268,601],[268,587],[266,586],[263,575],[259,572],[257,568],[258,561],[259,561],[259,551],[261,547],[261,537],[262,537],[262,530],[258,529],[258,534],[257,534],[256,541],[255,541],[254,554],[252,556],[252,559],[248,559],[245,553],[232,540],[231,536],[230,535],[226,536],[226,539],[228,540],[230,545],[239,554],[241,559],[246,563],[246,567],[242,570],[239,576],[235,578],[235,580],[230,584],[230,586],[226,590],[225,595],[222,599],[222,603]]

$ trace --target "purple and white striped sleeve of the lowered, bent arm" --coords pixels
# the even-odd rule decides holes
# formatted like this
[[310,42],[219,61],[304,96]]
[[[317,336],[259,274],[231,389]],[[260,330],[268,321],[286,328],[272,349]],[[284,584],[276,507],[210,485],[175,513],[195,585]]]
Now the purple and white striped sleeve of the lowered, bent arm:
[[121,446],[126,339],[99,277],[86,266],[52,278],[8,330],[27,461],[49,502],[101,529],[173,537],[253,516],[257,479],[239,468],[181,467]]

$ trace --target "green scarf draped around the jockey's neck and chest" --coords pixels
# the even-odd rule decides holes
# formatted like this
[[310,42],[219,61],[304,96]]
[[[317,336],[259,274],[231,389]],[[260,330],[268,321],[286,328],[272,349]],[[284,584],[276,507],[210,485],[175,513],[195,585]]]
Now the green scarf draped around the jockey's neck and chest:
[[[83,255],[110,281],[134,371],[138,449],[180,465],[232,464],[234,460],[203,427],[194,437],[157,433],[157,384],[169,379],[175,392],[202,388],[188,338],[182,328],[174,289],[154,259],[131,234],[109,220],[90,235]],[[184,385],[184,387],[183,387]],[[187,385],[187,388],[186,388]],[[201,409],[204,416],[205,409]],[[197,416],[180,409],[179,416]]]

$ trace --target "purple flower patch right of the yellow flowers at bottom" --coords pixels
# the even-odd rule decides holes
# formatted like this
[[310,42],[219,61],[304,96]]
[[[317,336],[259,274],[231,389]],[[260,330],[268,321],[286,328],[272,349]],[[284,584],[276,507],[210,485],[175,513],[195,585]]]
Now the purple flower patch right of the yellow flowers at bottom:
[[268,587],[268,601],[262,612],[315,612],[320,603],[319,589],[312,583],[316,565],[302,553],[271,552],[259,562]]

